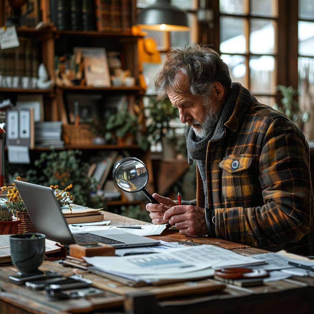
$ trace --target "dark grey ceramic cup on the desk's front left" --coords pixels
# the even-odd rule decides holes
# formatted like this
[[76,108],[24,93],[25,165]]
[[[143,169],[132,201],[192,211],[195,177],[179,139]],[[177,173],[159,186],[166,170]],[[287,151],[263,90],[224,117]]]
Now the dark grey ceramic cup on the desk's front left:
[[45,238],[46,236],[41,233],[23,233],[10,236],[12,262],[21,273],[35,273],[37,271],[45,257]]

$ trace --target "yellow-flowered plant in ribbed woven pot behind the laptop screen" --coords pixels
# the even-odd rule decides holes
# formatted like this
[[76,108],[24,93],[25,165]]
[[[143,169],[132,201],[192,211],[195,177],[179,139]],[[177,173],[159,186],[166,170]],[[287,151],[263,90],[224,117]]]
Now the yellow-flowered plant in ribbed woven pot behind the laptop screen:
[[[16,177],[16,180],[21,181],[21,177]],[[5,204],[7,205],[7,208],[11,214],[16,216],[16,218],[19,220],[16,231],[13,233],[36,232],[35,226],[30,219],[30,215],[25,208],[25,205],[19,195],[18,189],[15,187],[15,184],[12,183],[11,188],[2,187],[1,192],[4,192],[5,190],[8,191],[7,201]]]

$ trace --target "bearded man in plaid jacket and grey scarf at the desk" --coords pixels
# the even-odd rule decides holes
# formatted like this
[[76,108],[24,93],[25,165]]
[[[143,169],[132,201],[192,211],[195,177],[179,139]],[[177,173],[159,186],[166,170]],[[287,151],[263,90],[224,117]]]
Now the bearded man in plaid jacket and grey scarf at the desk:
[[314,253],[309,148],[283,113],[260,104],[207,46],[167,54],[156,78],[187,124],[188,162],[197,164],[197,198],[146,209],[154,224],[184,235],[225,239],[270,251]]

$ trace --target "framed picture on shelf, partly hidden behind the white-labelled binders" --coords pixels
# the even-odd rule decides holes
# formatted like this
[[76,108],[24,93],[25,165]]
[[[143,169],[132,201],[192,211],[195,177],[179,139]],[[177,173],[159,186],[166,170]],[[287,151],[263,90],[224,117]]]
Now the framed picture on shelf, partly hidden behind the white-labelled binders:
[[18,95],[16,100],[18,109],[34,109],[34,121],[44,121],[43,95]]

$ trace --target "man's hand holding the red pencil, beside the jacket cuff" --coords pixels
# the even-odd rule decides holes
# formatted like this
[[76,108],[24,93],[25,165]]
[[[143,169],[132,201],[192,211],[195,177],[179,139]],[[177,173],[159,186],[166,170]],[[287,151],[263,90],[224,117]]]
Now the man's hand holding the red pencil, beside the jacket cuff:
[[207,235],[204,208],[192,205],[173,206],[165,212],[163,221],[175,225],[182,235]]

